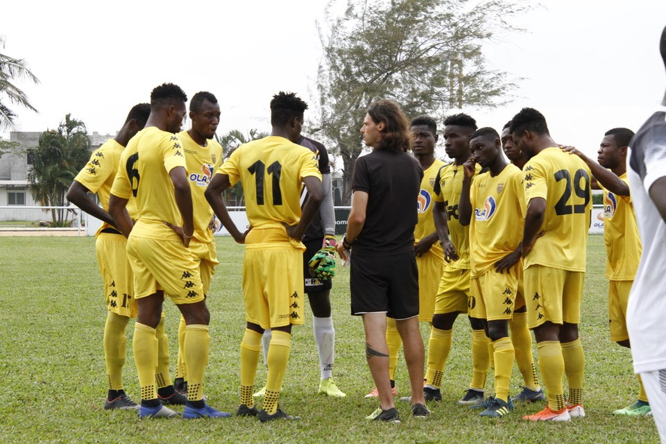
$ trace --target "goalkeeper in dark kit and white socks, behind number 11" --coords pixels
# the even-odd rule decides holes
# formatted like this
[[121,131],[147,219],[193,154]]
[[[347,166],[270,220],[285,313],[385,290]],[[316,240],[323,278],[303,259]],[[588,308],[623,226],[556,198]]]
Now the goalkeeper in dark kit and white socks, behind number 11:
[[[321,186],[323,187],[323,200],[319,207],[319,214],[314,216],[303,236],[303,244],[307,248],[303,253],[303,278],[305,278],[305,293],[307,293],[312,309],[314,340],[317,343],[319,353],[319,371],[321,372],[319,393],[334,398],[344,398],[345,393],[336,386],[332,377],[335,330],[331,316],[330,293],[332,278],[335,275],[336,241],[331,166],[323,144],[307,137],[301,137],[298,144],[309,148],[316,154],[319,172],[321,173]],[[305,194],[305,188],[303,193]],[[301,205],[305,205],[307,194],[301,200]],[[270,341],[271,330],[266,330],[262,339],[264,362],[266,362]],[[262,396],[263,394],[264,388],[255,393],[255,396]]]

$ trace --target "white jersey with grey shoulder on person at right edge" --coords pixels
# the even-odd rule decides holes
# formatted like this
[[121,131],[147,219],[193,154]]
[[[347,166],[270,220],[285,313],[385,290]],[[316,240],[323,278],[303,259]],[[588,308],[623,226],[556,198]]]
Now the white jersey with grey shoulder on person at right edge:
[[652,184],[666,176],[666,108],[631,139],[626,171],[643,243],[626,323],[634,371],[644,373],[666,368],[666,223],[649,196]]

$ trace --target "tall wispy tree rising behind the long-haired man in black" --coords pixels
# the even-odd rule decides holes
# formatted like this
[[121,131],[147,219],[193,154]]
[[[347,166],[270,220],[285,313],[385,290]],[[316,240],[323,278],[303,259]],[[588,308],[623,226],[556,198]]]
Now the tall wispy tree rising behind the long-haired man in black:
[[332,3],[325,26],[319,26],[323,60],[313,131],[343,159],[345,202],[370,103],[392,99],[408,116],[441,118],[452,108],[502,105],[515,87],[505,72],[488,67],[482,45],[515,31],[507,20],[529,6],[504,0],[348,0],[343,15],[334,17]]

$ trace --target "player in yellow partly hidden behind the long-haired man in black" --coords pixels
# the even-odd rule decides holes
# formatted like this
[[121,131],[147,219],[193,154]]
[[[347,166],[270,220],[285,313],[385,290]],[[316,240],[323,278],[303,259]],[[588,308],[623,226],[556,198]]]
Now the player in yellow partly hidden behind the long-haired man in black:
[[[423,169],[423,178],[418,193],[418,223],[414,228],[414,252],[418,268],[418,320],[432,322],[435,309],[437,285],[444,267],[444,253],[437,241],[437,232],[432,220],[432,198],[435,178],[445,163],[435,158],[435,144],[439,138],[437,122],[432,117],[415,117],[409,124],[411,134],[411,151]],[[388,345],[388,374],[391,376],[391,391],[398,394],[395,387],[395,366],[398,362],[398,350],[402,339],[395,325],[395,319],[386,318],[386,345]],[[377,388],[366,395],[366,398],[378,396]],[[411,401],[411,396],[400,398]]]

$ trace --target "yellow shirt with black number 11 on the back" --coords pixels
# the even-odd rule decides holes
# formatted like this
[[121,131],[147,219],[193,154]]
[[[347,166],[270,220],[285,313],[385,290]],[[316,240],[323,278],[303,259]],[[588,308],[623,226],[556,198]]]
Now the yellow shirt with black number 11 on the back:
[[[262,239],[291,241],[282,222],[296,225],[300,221],[302,180],[308,176],[321,180],[316,155],[279,136],[239,146],[217,172],[228,175],[231,185],[243,184],[248,221],[253,227],[246,244],[265,242]],[[260,232],[269,229],[271,233]]]

